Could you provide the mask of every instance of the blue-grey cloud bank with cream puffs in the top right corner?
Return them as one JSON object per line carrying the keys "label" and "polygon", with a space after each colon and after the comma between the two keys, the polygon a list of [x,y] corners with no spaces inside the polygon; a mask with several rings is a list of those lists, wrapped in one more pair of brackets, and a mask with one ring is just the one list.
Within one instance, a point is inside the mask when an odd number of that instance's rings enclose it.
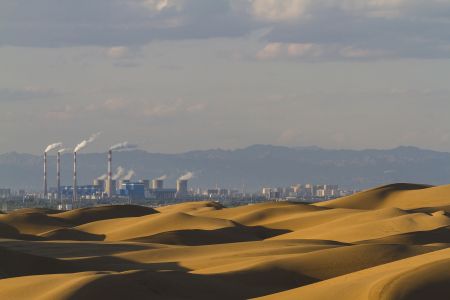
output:
{"label": "blue-grey cloud bank with cream puffs in the top right corner", "polygon": [[449,1],[330,0],[303,4],[302,13],[288,21],[268,18],[271,31],[264,38],[267,45],[309,45],[313,51],[301,47],[300,55],[293,55],[280,50],[274,58],[450,57],[450,32],[444,30],[450,22]]}

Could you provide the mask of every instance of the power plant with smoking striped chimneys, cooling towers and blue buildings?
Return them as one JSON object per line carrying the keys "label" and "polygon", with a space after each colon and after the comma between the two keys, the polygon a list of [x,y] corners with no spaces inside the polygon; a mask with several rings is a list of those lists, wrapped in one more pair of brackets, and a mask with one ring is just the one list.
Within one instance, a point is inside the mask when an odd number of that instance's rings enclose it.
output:
{"label": "power plant with smoking striped chimneys, cooling towers and blue buildings", "polygon": [[[73,150],[73,177],[71,186],[61,185],[61,154],[66,151],[62,149],[61,143],[49,145],[44,151],[44,197],[48,199],[57,199],[57,204],[61,209],[73,209],[86,206],[87,200],[95,200],[97,203],[115,203],[116,201],[138,201],[138,200],[164,200],[170,201],[175,199],[189,198],[188,181],[193,177],[188,172],[178,178],[176,188],[165,188],[164,181],[167,176],[161,176],[153,180],[142,179],[140,181],[132,181],[135,172],[126,170],[118,166],[113,173],[113,152],[126,151],[135,149],[135,145],[127,142],[112,146],[107,151],[107,173],[96,178],[92,185],[78,185],[78,154],[88,144],[93,142],[98,134],[91,136],[87,140],[83,140]],[[60,148],[56,154],[56,188],[52,188],[48,193],[47,187],[47,153],[53,149]],[[64,200],[70,199],[69,205],[63,205]],[[122,199],[122,200],[120,200]],[[81,201],[83,200],[83,201]],[[102,202],[104,201],[104,202]],[[66,202],[67,204],[67,202]]]}

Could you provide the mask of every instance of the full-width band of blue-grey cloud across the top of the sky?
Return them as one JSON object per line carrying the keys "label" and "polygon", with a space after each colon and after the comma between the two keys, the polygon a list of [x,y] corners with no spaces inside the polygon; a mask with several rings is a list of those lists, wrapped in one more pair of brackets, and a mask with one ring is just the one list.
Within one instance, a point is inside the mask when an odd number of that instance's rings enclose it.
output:
{"label": "full-width band of blue-grey cloud across the top of the sky", "polygon": [[248,38],[259,59],[449,58],[447,0],[4,0],[0,45],[101,46],[119,66],[160,40]]}

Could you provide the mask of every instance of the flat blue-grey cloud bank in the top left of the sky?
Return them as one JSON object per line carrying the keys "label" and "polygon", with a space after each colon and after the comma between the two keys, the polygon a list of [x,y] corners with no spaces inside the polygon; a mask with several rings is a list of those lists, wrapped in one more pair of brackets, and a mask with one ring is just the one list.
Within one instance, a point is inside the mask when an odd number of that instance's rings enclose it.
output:
{"label": "flat blue-grey cloud bank in the top left of the sky", "polygon": [[230,0],[0,1],[0,45],[110,48],[248,32]]}

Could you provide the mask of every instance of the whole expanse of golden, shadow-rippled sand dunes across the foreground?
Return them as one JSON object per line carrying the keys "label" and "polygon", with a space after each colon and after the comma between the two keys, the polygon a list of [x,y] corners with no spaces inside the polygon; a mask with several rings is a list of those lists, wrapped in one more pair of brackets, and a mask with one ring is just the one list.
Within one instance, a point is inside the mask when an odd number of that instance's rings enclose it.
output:
{"label": "whole expanse of golden, shadow-rippled sand dunes across the foreground", "polygon": [[0,299],[448,299],[450,186],[0,214]]}

